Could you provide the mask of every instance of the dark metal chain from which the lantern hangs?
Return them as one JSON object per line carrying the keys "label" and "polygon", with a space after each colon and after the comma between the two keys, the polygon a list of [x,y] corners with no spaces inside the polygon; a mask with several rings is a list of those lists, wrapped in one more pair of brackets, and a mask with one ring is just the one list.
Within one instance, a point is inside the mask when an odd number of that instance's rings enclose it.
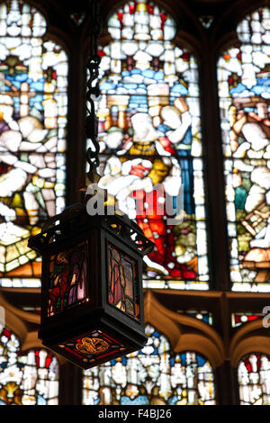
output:
{"label": "dark metal chain from which the lantern hangs", "polygon": [[[86,110],[88,112],[85,121],[85,134],[87,139],[91,139],[94,148],[90,147],[86,152],[86,159],[90,166],[90,172],[95,171],[99,166],[99,142],[97,140],[98,133],[98,119],[94,112],[93,96],[97,98],[100,95],[100,89],[97,82],[98,68],[101,58],[98,55],[98,39],[102,31],[102,18],[100,14],[99,0],[91,1],[91,16],[92,16],[92,29],[91,29],[91,47],[90,57],[86,61],[86,67],[89,71],[89,78],[86,83]],[[88,106],[89,104],[89,106]]]}

